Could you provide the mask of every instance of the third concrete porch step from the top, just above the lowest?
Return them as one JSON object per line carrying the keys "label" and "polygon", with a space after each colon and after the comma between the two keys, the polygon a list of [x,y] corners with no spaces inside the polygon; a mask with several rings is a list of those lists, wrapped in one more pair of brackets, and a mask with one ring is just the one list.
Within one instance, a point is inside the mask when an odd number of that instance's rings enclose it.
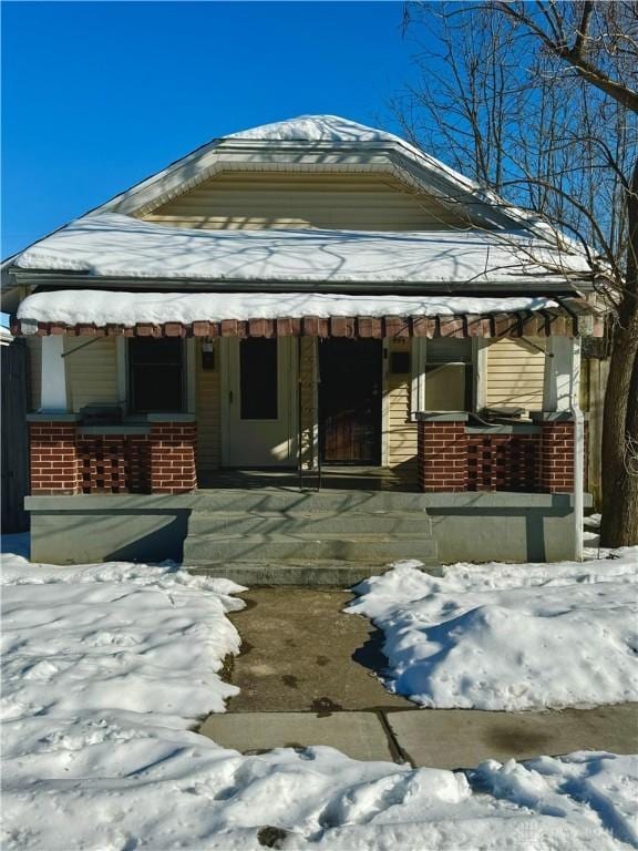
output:
{"label": "third concrete porch step from the top, just above the lowest", "polygon": [[277,562],[279,560],[333,560],[380,564],[399,558],[436,561],[436,542],[428,536],[392,535],[188,535],[184,563]]}

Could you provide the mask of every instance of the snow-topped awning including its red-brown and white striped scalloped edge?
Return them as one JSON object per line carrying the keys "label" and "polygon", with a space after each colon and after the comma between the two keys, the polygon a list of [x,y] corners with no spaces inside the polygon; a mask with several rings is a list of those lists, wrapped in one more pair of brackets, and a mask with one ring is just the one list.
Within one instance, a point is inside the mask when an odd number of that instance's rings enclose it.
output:
{"label": "snow-topped awning including its red-brown and white striped scalloped edge", "polygon": [[436,337],[584,332],[586,305],[546,297],[347,296],[302,293],[55,290],[28,296],[22,334]]}

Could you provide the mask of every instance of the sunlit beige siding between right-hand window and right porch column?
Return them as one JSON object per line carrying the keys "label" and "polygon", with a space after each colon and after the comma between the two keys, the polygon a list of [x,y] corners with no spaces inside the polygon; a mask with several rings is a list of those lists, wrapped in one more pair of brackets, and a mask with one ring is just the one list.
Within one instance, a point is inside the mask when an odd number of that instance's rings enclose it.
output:
{"label": "sunlit beige siding between right-hand window and right porch column", "polygon": [[485,404],[488,408],[543,408],[543,347],[542,338],[531,341],[506,338],[487,348]]}

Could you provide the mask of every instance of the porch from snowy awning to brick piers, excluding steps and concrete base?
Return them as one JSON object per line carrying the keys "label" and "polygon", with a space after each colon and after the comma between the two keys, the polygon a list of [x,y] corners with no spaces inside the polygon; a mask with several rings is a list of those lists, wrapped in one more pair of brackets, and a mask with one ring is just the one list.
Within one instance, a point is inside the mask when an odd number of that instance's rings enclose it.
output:
{"label": "porch from snowy awning to brick piers, excluding steps and concrete base", "polygon": [[[23,301],[17,331],[41,348],[32,493],[184,493],[261,468],[301,488],[574,489],[580,338],[603,332],[579,299],[166,295]],[[266,316],[196,318],[251,310]]]}

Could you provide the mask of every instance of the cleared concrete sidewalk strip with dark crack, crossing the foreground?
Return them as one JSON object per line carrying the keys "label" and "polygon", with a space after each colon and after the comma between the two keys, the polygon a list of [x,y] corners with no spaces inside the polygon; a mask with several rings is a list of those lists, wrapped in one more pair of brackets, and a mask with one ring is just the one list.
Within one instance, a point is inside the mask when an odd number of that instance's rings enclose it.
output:
{"label": "cleared concrete sidewalk strip with dark crack, crossing the foreground", "polygon": [[199,732],[243,753],[329,745],[353,759],[474,768],[484,759],[504,762],[575,750],[636,753],[638,705],[562,712],[237,712],[209,716]]}

